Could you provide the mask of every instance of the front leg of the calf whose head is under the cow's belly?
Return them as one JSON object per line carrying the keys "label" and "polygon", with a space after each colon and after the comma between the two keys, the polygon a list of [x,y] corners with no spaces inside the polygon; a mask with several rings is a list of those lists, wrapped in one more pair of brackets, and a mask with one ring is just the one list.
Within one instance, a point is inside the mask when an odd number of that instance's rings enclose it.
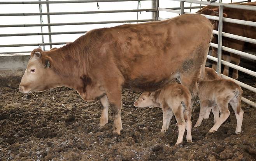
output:
{"label": "front leg of the calf whose head is under the cow's belly", "polygon": [[172,109],[168,105],[162,107],[163,110],[163,126],[161,129],[162,133],[165,133],[169,128],[170,120],[172,119]]}

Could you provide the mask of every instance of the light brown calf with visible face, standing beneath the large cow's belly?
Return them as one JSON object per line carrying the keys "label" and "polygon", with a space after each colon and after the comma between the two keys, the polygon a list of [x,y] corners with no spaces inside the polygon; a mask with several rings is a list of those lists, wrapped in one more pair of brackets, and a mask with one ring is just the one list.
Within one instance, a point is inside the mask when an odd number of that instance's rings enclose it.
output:
{"label": "light brown calf with visible face, standing beneath the large cow's belly", "polygon": [[134,102],[135,107],[161,107],[163,110],[163,126],[161,132],[169,128],[172,114],[179,127],[179,136],[176,142],[181,144],[185,129],[187,142],[192,142],[191,137],[191,94],[185,86],[173,83],[155,92],[143,92]]}

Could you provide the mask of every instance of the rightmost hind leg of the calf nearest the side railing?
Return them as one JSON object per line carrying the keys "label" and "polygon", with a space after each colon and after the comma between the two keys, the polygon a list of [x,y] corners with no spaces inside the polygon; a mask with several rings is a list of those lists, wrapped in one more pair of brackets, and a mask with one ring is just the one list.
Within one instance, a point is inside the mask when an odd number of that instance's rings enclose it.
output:
{"label": "rightmost hind leg of the calf nearest the side railing", "polygon": [[240,134],[242,131],[242,122],[243,122],[244,111],[240,107],[239,100],[237,100],[235,98],[230,101],[230,105],[235,112],[235,117],[237,118],[237,128],[235,129],[235,133]]}

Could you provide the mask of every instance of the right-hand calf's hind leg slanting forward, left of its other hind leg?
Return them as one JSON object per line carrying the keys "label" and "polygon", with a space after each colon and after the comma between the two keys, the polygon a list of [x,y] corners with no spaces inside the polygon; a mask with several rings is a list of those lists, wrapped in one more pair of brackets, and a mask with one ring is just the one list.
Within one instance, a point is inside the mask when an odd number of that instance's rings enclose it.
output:
{"label": "right-hand calf's hind leg slanting forward, left of its other hind leg", "polygon": [[223,122],[226,121],[226,119],[228,119],[228,116],[230,115],[230,112],[228,110],[228,101],[226,100],[226,98],[217,98],[217,106],[221,111],[221,115],[219,117],[219,120],[209,130],[209,133],[214,133],[215,131],[217,131],[217,129],[219,129],[219,127],[223,124]]}

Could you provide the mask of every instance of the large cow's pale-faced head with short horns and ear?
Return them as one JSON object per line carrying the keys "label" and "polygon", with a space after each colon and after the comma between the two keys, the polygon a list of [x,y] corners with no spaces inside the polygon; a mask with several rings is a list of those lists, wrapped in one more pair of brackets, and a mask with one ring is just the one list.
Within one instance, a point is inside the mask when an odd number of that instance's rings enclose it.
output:
{"label": "large cow's pale-faced head with short horns and ear", "polygon": [[57,76],[51,69],[52,59],[39,47],[31,52],[28,66],[19,84],[21,93],[44,91],[58,86]]}

